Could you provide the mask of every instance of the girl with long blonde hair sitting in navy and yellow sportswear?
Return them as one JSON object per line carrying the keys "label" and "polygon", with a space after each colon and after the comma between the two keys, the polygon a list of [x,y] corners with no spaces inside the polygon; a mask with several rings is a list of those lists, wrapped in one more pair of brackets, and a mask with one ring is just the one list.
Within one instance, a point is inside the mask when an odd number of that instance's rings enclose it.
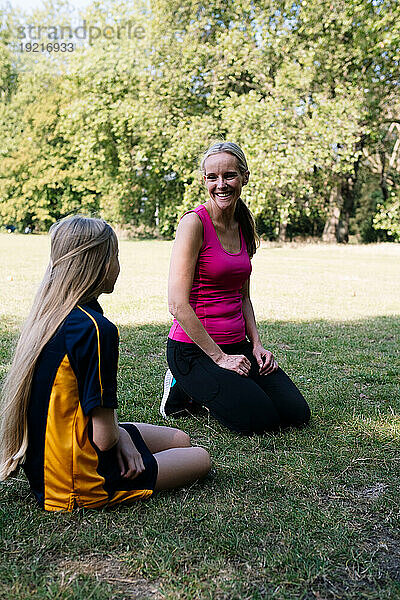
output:
{"label": "girl with long blonde hair sitting in navy and yellow sportswear", "polygon": [[120,270],[114,231],[74,216],[50,232],[50,264],[3,388],[0,480],[22,464],[44,509],[71,511],[205,476],[209,455],[186,433],[118,425],[118,330],[97,301]]}

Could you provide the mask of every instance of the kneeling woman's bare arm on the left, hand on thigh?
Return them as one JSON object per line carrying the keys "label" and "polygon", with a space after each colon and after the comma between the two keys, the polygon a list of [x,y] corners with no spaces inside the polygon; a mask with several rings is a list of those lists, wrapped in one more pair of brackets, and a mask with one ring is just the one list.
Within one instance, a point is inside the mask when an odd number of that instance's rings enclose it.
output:
{"label": "kneeling woman's bare arm on the left, hand on thigh", "polygon": [[168,279],[168,305],[187,335],[217,365],[247,375],[250,361],[243,355],[225,354],[204,329],[189,303],[201,245],[203,225],[194,213],[185,215],[177,228]]}

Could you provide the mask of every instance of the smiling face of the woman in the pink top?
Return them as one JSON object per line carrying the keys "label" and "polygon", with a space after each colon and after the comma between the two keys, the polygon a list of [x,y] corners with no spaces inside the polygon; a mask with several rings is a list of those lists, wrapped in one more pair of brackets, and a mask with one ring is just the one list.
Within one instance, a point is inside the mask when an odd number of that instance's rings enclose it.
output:
{"label": "smiling face of the woman in the pink top", "polygon": [[228,152],[212,154],[204,162],[204,183],[210,199],[220,210],[235,207],[242,186],[248,181],[248,171],[243,175],[236,156]]}

